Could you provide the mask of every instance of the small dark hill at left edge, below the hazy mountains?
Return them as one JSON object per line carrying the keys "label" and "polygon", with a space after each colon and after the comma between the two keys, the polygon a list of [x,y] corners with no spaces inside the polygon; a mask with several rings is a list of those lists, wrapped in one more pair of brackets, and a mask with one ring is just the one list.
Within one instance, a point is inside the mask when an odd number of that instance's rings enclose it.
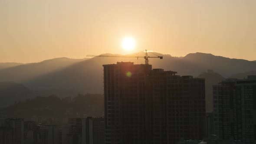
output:
{"label": "small dark hill at left edge, below the hazy mountains", "polygon": [[0,82],[0,107],[14,104],[30,98],[31,91],[22,84],[14,82]]}

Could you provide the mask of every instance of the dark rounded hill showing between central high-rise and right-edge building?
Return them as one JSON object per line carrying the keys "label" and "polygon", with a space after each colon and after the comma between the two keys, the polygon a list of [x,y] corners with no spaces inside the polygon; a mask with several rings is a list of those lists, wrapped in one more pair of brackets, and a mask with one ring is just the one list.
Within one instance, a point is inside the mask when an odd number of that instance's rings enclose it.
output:
{"label": "dark rounded hill showing between central high-rise and right-edge building", "polygon": [[213,85],[217,85],[225,78],[212,70],[208,72],[202,72],[197,78],[205,79],[205,101],[206,101],[206,111],[213,111]]}

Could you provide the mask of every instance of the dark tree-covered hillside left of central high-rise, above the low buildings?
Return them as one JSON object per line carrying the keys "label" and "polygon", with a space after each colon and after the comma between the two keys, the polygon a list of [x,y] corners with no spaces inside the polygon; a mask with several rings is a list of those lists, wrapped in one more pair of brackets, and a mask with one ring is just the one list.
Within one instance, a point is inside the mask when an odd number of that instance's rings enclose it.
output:
{"label": "dark tree-covered hillside left of central high-rise, above the low buildings", "polygon": [[86,94],[62,99],[56,95],[39,96],[3,108],[0,113],[9,118],[31,118],[32,116],[53,118],[102,117],[104,114],[104,96]]}

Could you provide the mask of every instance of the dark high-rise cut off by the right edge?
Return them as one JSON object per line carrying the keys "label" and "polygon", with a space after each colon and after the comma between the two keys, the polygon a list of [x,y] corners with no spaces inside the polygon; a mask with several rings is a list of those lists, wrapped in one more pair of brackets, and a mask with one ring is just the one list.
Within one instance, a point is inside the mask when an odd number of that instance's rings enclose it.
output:
{"label": "dark high-rise cut off by the right edge", "polygon": [[256,76],[213,86],[214,132],[223,140],[256,141]]}

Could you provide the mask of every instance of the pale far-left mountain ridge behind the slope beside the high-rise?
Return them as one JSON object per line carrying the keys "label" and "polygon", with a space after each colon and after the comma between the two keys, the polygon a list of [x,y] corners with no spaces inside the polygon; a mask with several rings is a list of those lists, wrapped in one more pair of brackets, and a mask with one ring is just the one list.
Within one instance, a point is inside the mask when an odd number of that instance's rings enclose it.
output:
{"label": "pale far-left mountain ridge behind the slope beside the high-rise", "polygon": [[38,63],[18,65],[9,69],[0,70],[0,82],[12,81],[23,83],[26,80],[34,79],[37,76],[64,69],[84,59],[56,58]]}

